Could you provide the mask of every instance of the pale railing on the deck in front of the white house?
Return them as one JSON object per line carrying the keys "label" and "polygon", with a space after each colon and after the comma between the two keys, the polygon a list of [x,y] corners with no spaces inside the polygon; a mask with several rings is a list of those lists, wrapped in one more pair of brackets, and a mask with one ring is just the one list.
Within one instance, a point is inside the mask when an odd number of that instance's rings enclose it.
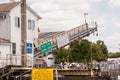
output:
{"label": "pale railing on the deck in front of the white house", "polygon": [[7,54],[5,58],[0,58],[0,68],[4,68],[6,65],[22,65],[21,57],[24,57],[26,66],[32,66],[33,61],[32,57],[28,55],[19,55],[19,54]]}

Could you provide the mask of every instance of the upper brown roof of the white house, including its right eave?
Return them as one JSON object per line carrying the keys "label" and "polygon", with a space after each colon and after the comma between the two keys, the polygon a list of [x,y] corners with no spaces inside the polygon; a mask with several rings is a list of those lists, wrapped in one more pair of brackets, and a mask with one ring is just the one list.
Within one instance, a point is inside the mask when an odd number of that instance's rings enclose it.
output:
{"label": "upper brown roof of the white house, including its right eave", "polygon": [[[0,4],[0,12],[9,12],[11,9],[16,7],[17,5],[21,4],[21,2],[13,2],[13,3],[3,3]],[[38,19],[41,19],[41,17],[30,7],[26,6],[26,8],[32,12]]]}

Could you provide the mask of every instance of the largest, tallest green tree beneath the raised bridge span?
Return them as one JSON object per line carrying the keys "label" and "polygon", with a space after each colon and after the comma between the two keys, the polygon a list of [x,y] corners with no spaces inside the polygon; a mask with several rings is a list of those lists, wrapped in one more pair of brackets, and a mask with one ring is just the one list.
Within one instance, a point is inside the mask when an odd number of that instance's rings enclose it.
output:
{"label": "largest, tallest green tree beneath the raised bridge span", "polygon": [[71,58],[76,62],[87,63],[89,61],[90,42],[86,39],[71,43]]}

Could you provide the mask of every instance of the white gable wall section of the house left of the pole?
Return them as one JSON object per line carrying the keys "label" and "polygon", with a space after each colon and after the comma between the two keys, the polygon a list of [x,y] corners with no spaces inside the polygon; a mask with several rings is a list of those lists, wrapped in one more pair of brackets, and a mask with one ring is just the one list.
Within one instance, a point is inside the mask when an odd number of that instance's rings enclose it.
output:
{"label": "white gable wall section of the house left of the pole", "polygon": [[[20,5],[16,6],[10,11],[11,18],[11,42],[16,43],[16,54],[21,54],[21,26],[18,28],[15,26],[15,16],[21,17]],[[21,18],[20,18],[21,25]]]}

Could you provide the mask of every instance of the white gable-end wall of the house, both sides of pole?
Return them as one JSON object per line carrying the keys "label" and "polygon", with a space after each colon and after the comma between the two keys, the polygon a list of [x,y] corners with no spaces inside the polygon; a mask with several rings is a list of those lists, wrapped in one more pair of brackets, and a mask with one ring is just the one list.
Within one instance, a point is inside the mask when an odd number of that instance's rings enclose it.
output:
{"label": "white gable-end wall of the house, both sides of pole", "polygon": [[[37,38],[37,17],[35,17],[28,9],[27,9],[27,42],[33,43],[33,38]],[[11,10],[11,42],[17,43],[17,54],[21,54],[21,26],[20,28],[15,27],[15,16],[21,17],[21,7],[20,5]],[[21,18],[20,18],[21,19]],[[35,30],[28,30],[28,19],[35,21]],[[21,24],[21,22],[20,22]]]}

